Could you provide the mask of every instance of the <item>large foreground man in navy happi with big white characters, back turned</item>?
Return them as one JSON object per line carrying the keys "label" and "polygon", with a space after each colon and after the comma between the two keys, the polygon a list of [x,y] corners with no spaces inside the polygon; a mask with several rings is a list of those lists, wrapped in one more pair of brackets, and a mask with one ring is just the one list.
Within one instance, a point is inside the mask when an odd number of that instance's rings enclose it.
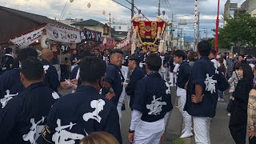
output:
{"label": "large foreground man in navy happi with big white characters, back turned", "polygon": [[82,85],[73,94],[58,99],[47,116],[38,144],[79,143],[87,134],[106,131],[122,143],[116,106],[98,94],[106,71],[101,58],[86,57],[80,64]]}

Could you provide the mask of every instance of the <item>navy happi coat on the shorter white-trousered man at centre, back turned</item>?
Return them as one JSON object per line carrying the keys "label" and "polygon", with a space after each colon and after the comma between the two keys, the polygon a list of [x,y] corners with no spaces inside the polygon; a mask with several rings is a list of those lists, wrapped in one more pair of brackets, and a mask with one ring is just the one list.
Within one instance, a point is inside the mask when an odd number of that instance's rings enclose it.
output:
{"label": "navy happi coat on the shorter white-trousered man at centre, back turned", "polygon": [[132,108],[142,112],[144,122],[156,122],[173,109],[170,86],[158,72],[147,74],[138,82]]}

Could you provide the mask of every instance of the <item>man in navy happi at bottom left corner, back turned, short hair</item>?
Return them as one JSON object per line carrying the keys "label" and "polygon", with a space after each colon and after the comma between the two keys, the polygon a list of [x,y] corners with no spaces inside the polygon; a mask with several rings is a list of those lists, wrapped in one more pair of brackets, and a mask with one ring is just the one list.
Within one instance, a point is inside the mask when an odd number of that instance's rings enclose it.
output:
{"label": "man in navy happi at bottom left corner, back turned, short hair", "polygon": [[[59,98],[42,82],[44,70],[38,58],[22,62],[22,93],[6,94],[0,108],[0,143],[34,144],[46,123],[55,100]],[[20,80],[20,79],[19,79]]]}

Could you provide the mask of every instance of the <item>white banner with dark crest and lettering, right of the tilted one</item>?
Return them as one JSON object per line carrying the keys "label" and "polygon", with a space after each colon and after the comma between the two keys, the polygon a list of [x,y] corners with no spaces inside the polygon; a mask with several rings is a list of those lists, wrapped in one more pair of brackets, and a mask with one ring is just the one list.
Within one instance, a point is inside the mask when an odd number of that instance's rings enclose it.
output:
{"label": "white banner with dark crest and lettering, right of the tilted one", "polygon": [[80,31],[63,26],[48,24],[46,26],[47,38],[56,42],[79,43],[81,42]]}

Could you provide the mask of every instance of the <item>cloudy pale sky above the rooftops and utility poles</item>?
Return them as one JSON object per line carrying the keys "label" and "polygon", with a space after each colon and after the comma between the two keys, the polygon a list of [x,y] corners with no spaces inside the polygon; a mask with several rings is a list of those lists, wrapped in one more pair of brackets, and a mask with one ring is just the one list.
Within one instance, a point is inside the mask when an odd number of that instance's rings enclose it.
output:
{"label": "cloudy pale sky above the rooftops and utility poles", "polygon": [[[67,1],[70,0],[0,0],[0,6],[10,7],[16,10],[22,10],[33,14],[45,15],[49,18],[61,18],[62,10]],[[131,0],[115,0],[124,6],[130,7]],[[182,19],[186,19],[187,25],[182,26],[183,34],[186,36],[194,35],[194,0],[160,0],[161,11],[166,10],[166,14],[171,19],[174,15],[174,26],[178,25],[178,22]],[[231,2],[238,2],[241,5],[245,0],[231,0]],[[90,8],[88,8],[90,3]],[[224,5],[226,0],[220,0],[220,15],[224,13]],[[154,20],[158,14],[158,0],[134,0],[135,6],[142,10],[142,13],[146,15],[150,20]],[[200,11],[200,30],[202,30],[201,36],[206,37],[208,31],[208,37],[213,37],[211,32],[215,28],[215,19],[217,16],[218,0],[198,0],[198,10]],[[106,14],[102,14],[105,10]],[[136,10],[136,9],[135,9]],[[62,19],[65,18],[83,18],[95,19],[100,22],[107,22],[109,15],[114,17],[115,22],[129,22],[130,10],[118,5],[112,0],[74,0],[74,2],[68,2]],[[220,21],[222,26],[223,21]],[[177,33],[177,30],[176,30]],[[176,34],[177,35],[177,34]]]}

